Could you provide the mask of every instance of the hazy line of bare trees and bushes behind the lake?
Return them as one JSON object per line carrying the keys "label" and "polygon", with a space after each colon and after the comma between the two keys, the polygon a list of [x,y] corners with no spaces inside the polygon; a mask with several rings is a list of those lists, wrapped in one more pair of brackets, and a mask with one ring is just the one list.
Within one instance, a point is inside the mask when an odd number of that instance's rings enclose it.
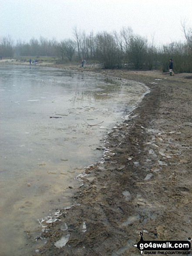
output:
{"label": "hazy line of bare trees and bushes behind the lake", "polygon": [[147,39],[135,34],[130,27],[120,32],[107,31],[86,34],[74,28],[74,39],[56,41],[40,37],[29,42],[17,41],[14,44],[10,36],[0,40],[0,57],[20,56],[59,57],[60,62],[97,61],[104,68],[134,68],[168,70],[168,60],[174,60],[175,72],[192,72],[192,29],[183,26],[185,42],[156,47]]}

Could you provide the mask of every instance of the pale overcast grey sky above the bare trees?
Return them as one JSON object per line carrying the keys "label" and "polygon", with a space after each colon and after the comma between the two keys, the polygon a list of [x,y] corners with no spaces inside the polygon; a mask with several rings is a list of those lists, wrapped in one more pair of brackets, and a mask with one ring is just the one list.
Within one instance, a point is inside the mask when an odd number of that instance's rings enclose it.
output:
{"label": "pale overcast grey sky above the bare trees", "polygon": [[181,20],[192,24],[192,0],[0,0],[0,37],[16,41],[73,38],[73,28],[87,33],[120,31],[158,44],[184,41]]}

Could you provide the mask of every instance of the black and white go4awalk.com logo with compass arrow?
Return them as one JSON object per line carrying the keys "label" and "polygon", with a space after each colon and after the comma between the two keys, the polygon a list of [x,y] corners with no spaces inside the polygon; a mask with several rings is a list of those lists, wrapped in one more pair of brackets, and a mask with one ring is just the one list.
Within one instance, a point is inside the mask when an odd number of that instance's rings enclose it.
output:
{"label": "black and white go4awalk.com logo with compass arrow", "polygon": [[191,243],[189,241],[144,241],[143,233],[140,233],[141,239],[134,246],[138,248],[141,254],[164,254],[164,255],[189,255]]}

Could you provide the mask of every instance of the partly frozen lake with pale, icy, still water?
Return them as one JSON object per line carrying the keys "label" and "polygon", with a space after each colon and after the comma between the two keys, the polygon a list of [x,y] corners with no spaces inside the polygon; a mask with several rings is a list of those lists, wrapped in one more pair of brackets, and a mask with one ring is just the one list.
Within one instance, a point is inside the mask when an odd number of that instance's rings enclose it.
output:
{"label": "partly frozen lake with pale, icy, still water", "polygon": [[35,251],[27,230],[70,206],[75,177],[101,159],[108,129],[146,90],[88,72],[0,67],[0,255]]}

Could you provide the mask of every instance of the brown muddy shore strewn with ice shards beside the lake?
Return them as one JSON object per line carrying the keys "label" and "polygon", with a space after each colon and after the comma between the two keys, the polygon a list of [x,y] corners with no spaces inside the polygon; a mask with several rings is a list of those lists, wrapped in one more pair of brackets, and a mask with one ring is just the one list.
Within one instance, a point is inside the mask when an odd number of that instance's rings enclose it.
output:
{"label": "brown muddy shore strewn with ice shards beside the lake", "polygon": [[30,243],[46,241],[34,255],[138,255],[132,245],[141,231],[145,240],[187,240],[192,236],[190,74],[54,67],[144,82],[151,92],[108,134],[104,159],[85,169],[72,207],[61,209],[59,220],[46,224],[37,241],[28,233]]}

